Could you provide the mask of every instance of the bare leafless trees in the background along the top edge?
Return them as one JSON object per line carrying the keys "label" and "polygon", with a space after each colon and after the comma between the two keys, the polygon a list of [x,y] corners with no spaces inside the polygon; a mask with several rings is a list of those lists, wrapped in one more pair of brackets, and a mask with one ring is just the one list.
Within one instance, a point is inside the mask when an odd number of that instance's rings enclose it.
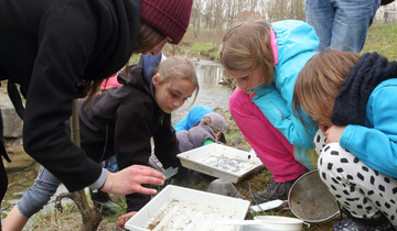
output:
{"label": "bare leafless trees in the background along the top edge", "polygon": [[[195,38],[207,33],[219,36],[236,21],[262,18],[269,22],[304,20],[304,0],[194,0],[192,10]],[[205,30],[205,35],[202,32]],[[213,35],[208,37],[213,40]],[[213,40],[215,41],[215,40]]]}

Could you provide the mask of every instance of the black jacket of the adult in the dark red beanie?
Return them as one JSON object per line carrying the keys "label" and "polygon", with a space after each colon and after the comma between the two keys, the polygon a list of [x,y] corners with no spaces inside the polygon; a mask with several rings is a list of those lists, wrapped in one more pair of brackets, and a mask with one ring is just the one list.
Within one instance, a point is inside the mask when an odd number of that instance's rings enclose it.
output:
{"label": "black jacket of the adult in the dark red beanie", "polygon": [[0,80],[29,88],[24,148],[71,191],[101,173],[65,130],[79,80],[121,69],[133,52],[139,23],[135,0],[0,1]]}

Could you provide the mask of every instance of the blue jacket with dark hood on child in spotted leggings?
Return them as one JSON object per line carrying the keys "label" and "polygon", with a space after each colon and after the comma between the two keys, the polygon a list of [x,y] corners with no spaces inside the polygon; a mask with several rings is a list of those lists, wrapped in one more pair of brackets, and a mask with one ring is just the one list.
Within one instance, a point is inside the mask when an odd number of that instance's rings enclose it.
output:
{"label": "blue jacket with dark hood on child in spotted leggings", "polygon": [[332,122],[348,124],[340,144],[371,168],[397,178],[397,62],[366,53],[335,99]]}

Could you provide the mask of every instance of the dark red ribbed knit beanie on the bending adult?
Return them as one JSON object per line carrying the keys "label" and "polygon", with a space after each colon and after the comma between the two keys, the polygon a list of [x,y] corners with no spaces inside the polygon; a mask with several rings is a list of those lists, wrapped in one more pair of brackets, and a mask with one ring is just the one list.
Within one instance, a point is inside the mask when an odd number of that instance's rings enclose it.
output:
{"label": "dark red ribbed knit beanie on the bending adult", "polygon": [[179,44],[187,30],[193,0],[140,0],[141,20]]}

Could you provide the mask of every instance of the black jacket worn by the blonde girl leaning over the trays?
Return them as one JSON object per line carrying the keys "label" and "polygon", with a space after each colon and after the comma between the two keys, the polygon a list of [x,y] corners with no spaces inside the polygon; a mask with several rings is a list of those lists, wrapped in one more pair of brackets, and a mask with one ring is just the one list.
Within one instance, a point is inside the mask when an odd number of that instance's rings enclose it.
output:
{"label": "black jacket worn by the blonde girl leaning over the trays", "polygon": [[[149,166],[153,138],[154,153],[163,167],[180,167],[171,114],[157,105],[142,67],[130,66],[128,78],[122,70],[118,81],[121,87],[109,88],[86,107],[81,105],[82,148],[98,162],[116,154],[120,169],[133,164]],[[149,202],[150,195],[131,194],[126,198],[127,211],[137,211]]]}

